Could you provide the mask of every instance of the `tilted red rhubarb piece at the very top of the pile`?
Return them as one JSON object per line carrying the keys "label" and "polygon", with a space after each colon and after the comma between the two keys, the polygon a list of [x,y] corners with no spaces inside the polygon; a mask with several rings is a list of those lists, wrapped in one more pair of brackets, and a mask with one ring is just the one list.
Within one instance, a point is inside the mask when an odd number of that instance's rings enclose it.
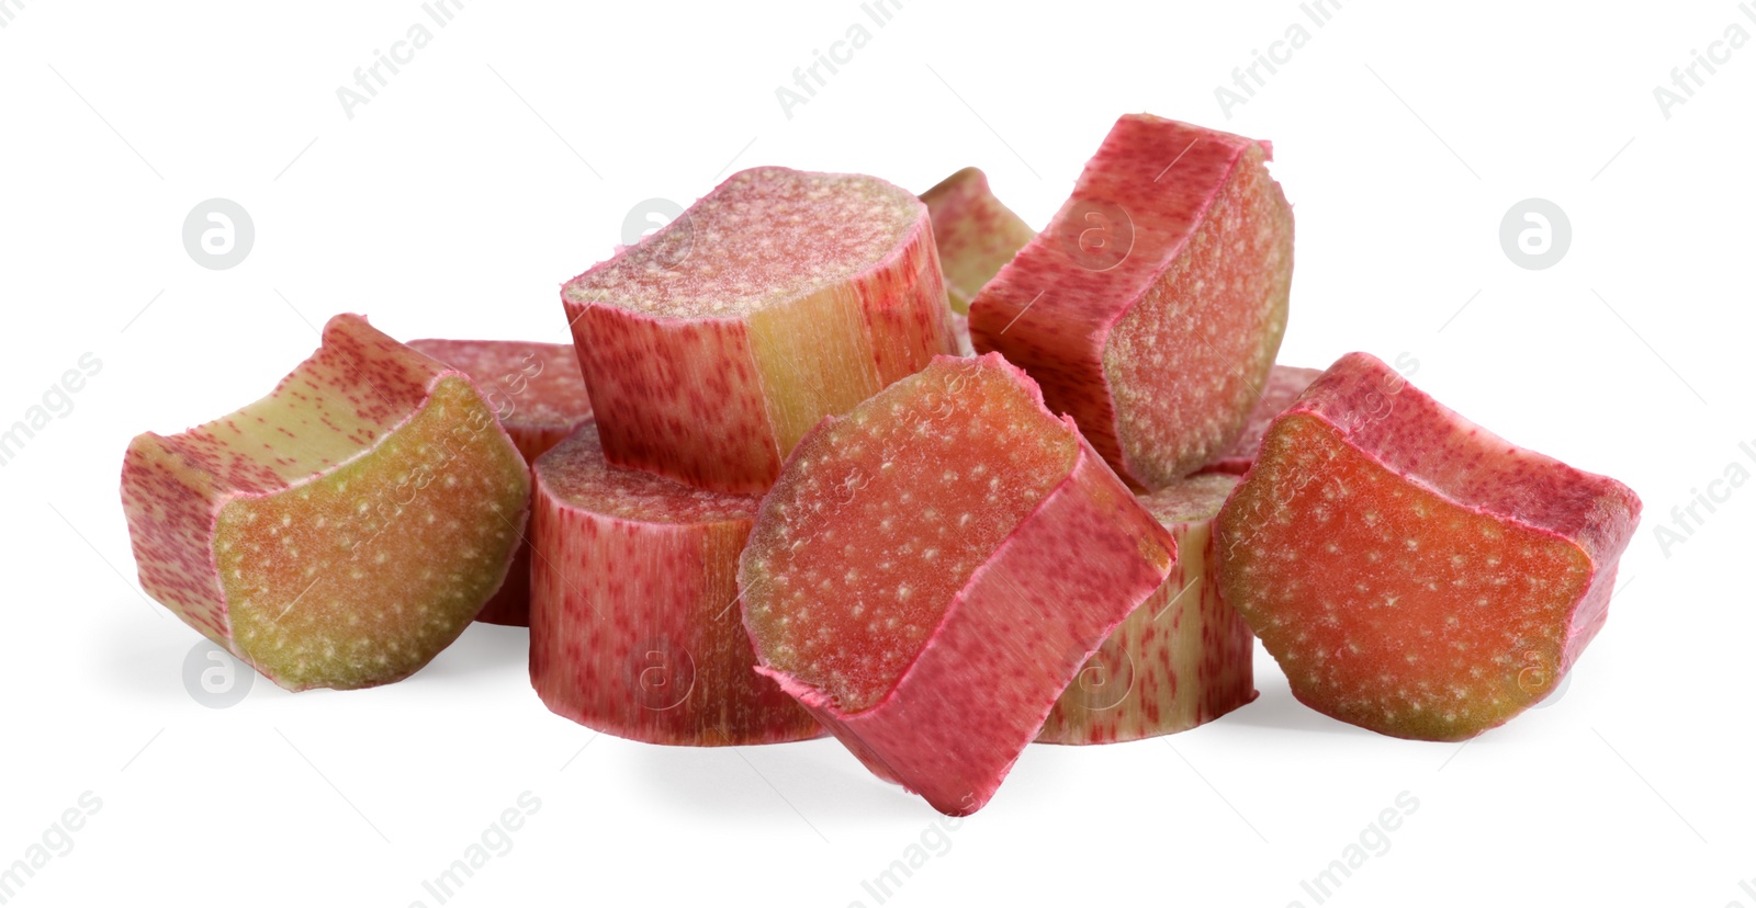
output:
{"label": "tilted red rhubarb piece at the very top of the pile", "polygon": [[1124,116],[969,307],[976,351],[1029,372],[1134,487],[1226,450],[1275,363],[1292,209],[1268,158],[1266,142]]}

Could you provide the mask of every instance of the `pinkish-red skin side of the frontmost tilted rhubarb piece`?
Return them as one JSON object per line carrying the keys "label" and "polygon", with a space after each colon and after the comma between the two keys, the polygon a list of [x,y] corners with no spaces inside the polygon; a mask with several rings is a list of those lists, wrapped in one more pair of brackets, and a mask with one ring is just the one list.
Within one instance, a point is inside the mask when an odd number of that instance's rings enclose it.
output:
{"label": "pinkish-red skin side of the frontmost tilted rhubarb piece", "polygon": [[766,663],[757,671],[799,698],[880,778],[941,813],[968,815],[992,798],[1085,659],[1175,563],[1169,531],[1082,438],[1068,477],[976,568],[876,705],[848,713],[785,671]]}

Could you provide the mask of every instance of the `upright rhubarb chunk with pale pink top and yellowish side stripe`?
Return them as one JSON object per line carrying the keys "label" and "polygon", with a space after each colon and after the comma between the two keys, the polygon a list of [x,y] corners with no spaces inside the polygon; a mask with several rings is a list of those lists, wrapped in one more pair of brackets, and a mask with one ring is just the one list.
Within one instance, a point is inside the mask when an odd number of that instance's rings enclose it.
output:
{"label": "upright rhubarb chunk with pale pink top and yellowish side stripe", "polygon": [[734,174],[562,301],[609,463],[723,493],[955,349],[927,209],[876,177]]}

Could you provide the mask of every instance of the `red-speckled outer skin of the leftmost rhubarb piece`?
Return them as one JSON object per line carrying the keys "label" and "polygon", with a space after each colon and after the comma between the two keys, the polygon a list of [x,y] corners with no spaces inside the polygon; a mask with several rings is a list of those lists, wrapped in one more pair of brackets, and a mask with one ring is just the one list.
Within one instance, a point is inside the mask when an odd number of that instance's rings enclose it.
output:
{"label": "red-speckled outer skin of the leftmost rhubarb piece", "polygon": [[[348,314],[323,326],[323,345],[311,361],[318,366],[314,372],[290,373],[270,396],[293,398],[311,408],[311,417],[330,426],[327,408],[337,407],[378,422],[378,431],[348,436],[360,447],[374,445],[407,422],[443,379],[469,380],[467,373],[418,356],[374,330],[365,317]],[[320,384],[314,375],[330,380]],[[279,435],[293,440],[284,428]],[[506,438],[504,431],[499,435]],[[246,442],[230,421],[170,436],[142,433],[123,456],[121,501],[140,587],[246,663],[249,656],[232,640],[220,587],[216,522],[232,500],[274,496],[321,475],[299,473],[291,465],[270,443]],[[335,465],[325,461],[327,466]],[[523,515],[518,521],[522,524]]]}

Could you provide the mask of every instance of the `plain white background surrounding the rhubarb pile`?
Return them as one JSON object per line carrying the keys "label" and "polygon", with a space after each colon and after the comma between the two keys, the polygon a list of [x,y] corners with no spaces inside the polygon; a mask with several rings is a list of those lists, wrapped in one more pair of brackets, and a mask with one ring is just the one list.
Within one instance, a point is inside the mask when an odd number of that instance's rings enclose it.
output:
{"label": "plain white background surrounding the rhubarb pile", "polygon": [[[1730,491],[1749,405],[1756,46],[1663,116],[1652,89],[1733,21],[1649,5],[471,0],[349,119],[335,89],[425,21],[413,0],[25,0],[0,28],[0,424],[81,354],[102,372],[0,468],[0,864],[102,808],[9,904],[437,904],[421,889],[520,792],[541,808],[451,904],[1317,901],[1301,889],[1400,792],[1419,808],[1329,904],[1756,906],[1751,522]],[[873,32],[810,103],[774,96]],[[1310,42],[1227,119],[1215,88],[1285,28]],[[945,831],[834,741],[741,750],[595,738],[548,713],[525,633],[476,626],[407,682],[214,710],[198,636],[137,592],[128,438],[230,412],[365,312],[397,337],[564,340],[557,287],[630,207],[778,163],[925,189],[980,165],[1041,226],[1122,112],[1275,142],[1298,214],[1282,361],[1352,349],[1514,442],[1645,500],[1623,592],[1559,699],[1465,747],[1257,703],[1166,740],[1033,747]],[[181,226],[256,226],[212,272]],[[1515,266],[1500,219],[1556,202],[1572,247]],[[1752,484],[1756,486],[1756,484]],[[1726,491],[1730,487],[1719,486]],[[583,750],[581,750],[583,748]],[[1752,889],[1756,890],[1756,889]]]}

